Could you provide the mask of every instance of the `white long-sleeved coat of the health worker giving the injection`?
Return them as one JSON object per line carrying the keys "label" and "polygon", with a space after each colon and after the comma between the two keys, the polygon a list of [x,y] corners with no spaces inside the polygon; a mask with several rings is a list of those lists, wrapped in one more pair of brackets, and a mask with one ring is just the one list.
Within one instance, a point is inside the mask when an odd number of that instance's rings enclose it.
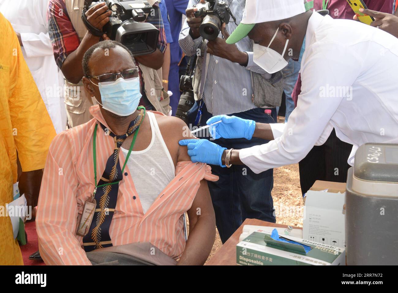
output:
{"label": "white long-sleeved coat of the health worker giving the injection", "polygon": [[[271,124],[274,140],[240,150],[259,173],[295,164],[333,128],[353,145],[398,143],[398,39],[352,20],[314,12],[301,61],[301,94],[285,124]],[[348,87],[348,88],[346,88]]]}

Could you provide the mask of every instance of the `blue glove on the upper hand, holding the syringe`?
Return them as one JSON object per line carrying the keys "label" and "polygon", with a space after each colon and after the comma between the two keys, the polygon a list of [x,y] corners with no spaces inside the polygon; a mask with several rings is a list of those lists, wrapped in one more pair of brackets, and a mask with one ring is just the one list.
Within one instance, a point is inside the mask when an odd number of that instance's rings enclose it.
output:
{"label": "blue glove on the upper hand, holding the syringe", "polygon": [[207,120],[207,125],[222,121],[210,127],[210,134],[214,139],[223,137],[224,139],[252,139],[256,122],[253,120],[242,119],[236,116],[217,115]]}

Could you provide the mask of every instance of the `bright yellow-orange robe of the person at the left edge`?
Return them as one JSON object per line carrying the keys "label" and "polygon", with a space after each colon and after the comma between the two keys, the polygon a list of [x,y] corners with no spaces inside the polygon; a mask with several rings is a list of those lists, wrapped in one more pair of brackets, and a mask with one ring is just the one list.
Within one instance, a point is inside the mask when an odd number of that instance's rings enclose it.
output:
{"label": "bright yellow-orange robe of the person at the left edge", "polygon": [[[1,13],[0,32],[0,206],[5,207],[17,180],[16,151],[23,172],[44,168],[55,130],[18,37]],[[10,218],[0,216],[0,265],[22,264]]]}

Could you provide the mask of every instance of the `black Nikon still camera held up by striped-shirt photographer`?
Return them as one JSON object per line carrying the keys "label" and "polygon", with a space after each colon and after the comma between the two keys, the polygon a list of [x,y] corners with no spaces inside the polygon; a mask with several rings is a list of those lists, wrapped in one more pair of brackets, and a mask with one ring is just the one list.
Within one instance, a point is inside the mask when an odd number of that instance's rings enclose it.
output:
{"label": "black Nikon still camera held up by striped-shirt photographer", "polygon": [[203,39],[217,39],[223,22],[228,24],[230,17],[236,22],[228,5],[223,0],[207,0],[195,6],[198,10],[194,13],[195,17],[203,17],[199,27],[199,33]]}

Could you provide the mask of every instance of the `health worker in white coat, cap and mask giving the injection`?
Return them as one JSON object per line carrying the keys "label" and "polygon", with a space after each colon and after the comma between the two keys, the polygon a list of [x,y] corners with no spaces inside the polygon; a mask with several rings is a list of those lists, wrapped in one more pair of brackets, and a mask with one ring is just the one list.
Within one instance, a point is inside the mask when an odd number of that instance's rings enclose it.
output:
{"label": "health worker in white coat, cap and mask giving the injection", "polygon": [[303,0],[246,0],[246,17],[226,42],[248,35],[254,62],[269,73],[302,55],[297,107],[284,124],[211,117],[207,124],[222,121],[211,127],[215,139],[271,141],[241,150],[203,139],[180,141],[193,162],[245,164],[259,173],[299,162],[333,128],[353,145],[347,158],[351,166],[364,143],[398,143],[398,39],[359,21],[321,16],[308,5]]}

